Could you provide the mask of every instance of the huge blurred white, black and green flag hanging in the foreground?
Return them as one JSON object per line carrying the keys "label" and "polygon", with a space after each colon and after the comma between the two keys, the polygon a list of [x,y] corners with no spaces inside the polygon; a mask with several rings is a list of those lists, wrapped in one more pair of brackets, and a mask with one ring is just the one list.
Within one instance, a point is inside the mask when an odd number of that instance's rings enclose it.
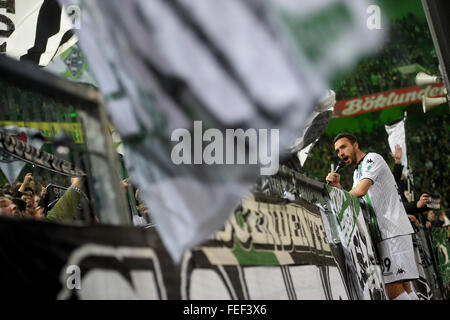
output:
{"label": "huge blurred white, black and green flag hanging in the foreground", "polygon": [[381,39],[366,1],[60,2],[80,7],[131,181],[176,261],[276,172],[329,77]]}

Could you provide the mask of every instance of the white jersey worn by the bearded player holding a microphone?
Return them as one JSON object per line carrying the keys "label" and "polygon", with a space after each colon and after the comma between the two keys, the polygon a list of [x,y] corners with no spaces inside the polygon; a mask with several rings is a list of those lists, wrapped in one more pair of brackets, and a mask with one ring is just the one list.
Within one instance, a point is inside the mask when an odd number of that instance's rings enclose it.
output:
{"label": "white jersey worn by the bearded player holding a microphone", "polygon": [[375,213],[381,239],[414,233],[394,176],[378,153],[369,152],[361,159],[353,173],[353,188],[366,178],[373,184],[363,199]]}

